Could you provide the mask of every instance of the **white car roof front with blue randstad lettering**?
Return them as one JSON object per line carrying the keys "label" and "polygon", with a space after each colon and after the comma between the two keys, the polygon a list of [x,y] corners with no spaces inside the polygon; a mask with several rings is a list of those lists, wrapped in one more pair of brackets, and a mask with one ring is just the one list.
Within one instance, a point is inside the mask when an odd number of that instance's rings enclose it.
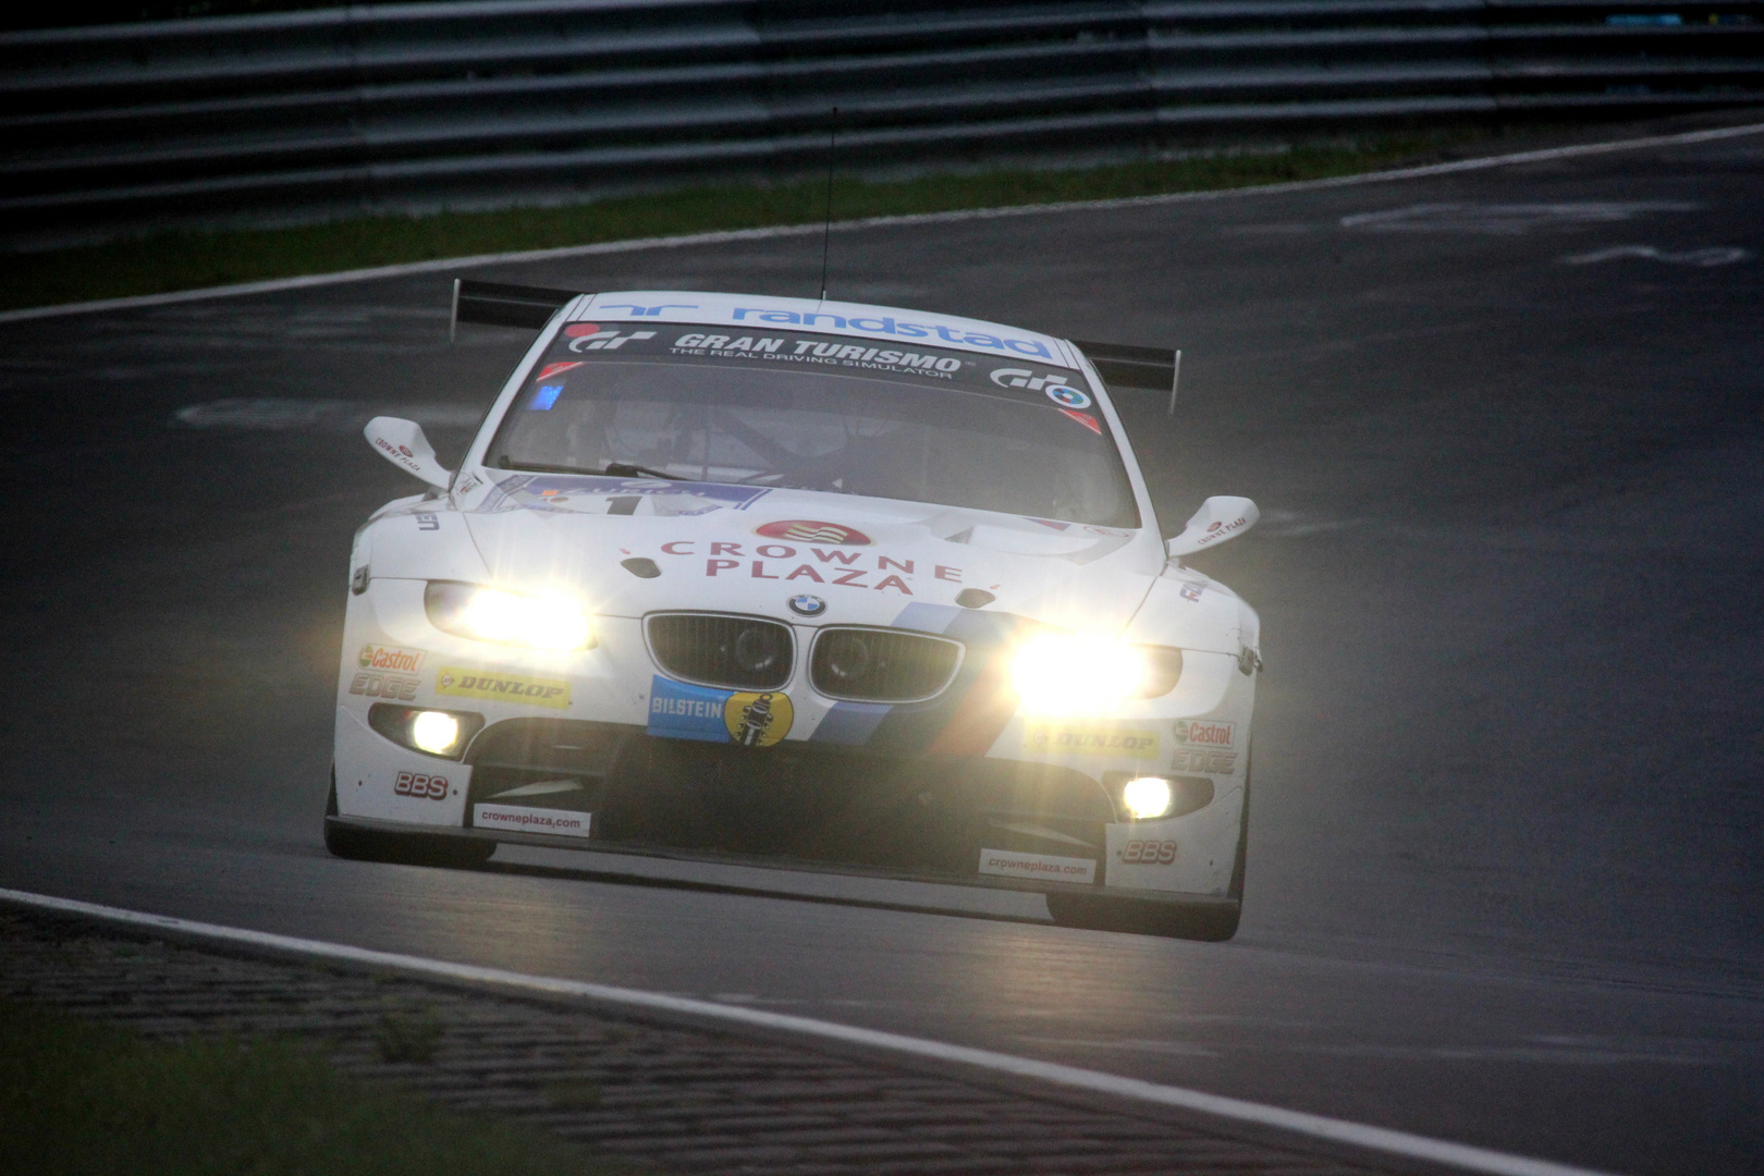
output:
{"label": "white car roof front with blue randstad lettering", "polygon": [[760,294],[713,294],[704,291],[637,289],[593,294],[575,309],[573,321],[637,319],[644,323],[693,323],[730,330],[787,328],[850,335],[889,342],[975,351],[981,354],[1043,360],[1078,367],[1073,347],[1064,339],[1027,331],[1004,323],[963,319],[931,310],[873,307],[861,301],[818,298],[773,298]]}

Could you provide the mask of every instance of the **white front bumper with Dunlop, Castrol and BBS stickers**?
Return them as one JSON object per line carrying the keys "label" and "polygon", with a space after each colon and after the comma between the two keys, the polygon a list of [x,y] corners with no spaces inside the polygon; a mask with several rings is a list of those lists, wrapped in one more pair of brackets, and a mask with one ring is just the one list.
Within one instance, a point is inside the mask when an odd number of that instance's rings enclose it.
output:
{"label": "white front bumper with Dunlop, Castrol and BBS stickers", "polygon": [[[972,654],[974,674],[930,703],[843,703],[792,681],[780,691],[794,703],[790,730],[773,746],[746,748],[714,733],[674,737],[672,716],[658,725],[656,700],[681,691],[656,674],[635,619],[609,619],[593,651],[529,654],[437,633],[422,614],[420,582],[376,580],[351,599],[346,651],[381,645],[418,654],[420,666],[399,679],[397,695],[374,693],[346,658],[339,823],[1230,901],[1254,677],[1222,654],[1191,656],[1171,695],[1108,719],[1000,709],[986,659]],[[480,672],[552,693],[540,703],[503,698],[467,677]],[[462,758],[429,756],[369,725],[370,707],[388,696],[471,711],[485,726]],[[1120,785],[1138,774],[1187,781],[1205,797],[1170,818],[1129,820]]]}

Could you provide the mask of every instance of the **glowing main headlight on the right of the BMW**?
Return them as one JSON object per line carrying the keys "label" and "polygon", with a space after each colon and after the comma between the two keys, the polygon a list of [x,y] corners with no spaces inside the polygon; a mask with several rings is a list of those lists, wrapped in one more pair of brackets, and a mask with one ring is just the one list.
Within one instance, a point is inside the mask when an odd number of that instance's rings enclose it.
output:
{"label": "glowing main headlight on the right of the BMW", "polygon": [[1023,707],[1041,714],[1090,714],[1125,698],[1157,698],[1175,689],[1178,677],[1180,649],[1085,633],[1041,633],[1011,659]]}

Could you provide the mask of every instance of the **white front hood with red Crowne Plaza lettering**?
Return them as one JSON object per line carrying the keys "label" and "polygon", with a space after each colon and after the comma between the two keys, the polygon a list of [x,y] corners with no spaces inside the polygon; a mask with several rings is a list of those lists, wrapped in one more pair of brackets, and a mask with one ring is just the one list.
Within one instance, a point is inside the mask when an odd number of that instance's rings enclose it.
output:
{"label": "white front hood with red Crowne Plaza lettering", "polygon": [[826,601],[815,622],[887,626],[981,589],[988,612],[1115,633],[1164,569],[1143,531],[804,490],[496,474],[459,497],[496,584],[564,589],[612,617],[792,619],[787,601],[808,594]]}

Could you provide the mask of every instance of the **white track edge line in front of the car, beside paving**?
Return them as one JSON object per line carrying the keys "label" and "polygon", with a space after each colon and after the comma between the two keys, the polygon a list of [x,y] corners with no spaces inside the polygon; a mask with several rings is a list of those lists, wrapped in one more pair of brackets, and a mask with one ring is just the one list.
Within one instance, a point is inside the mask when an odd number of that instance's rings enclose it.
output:
{"label": "white track edge line in front of the car, beside paving", "polygon": [[34,906],[37,910],[86,915],[134,927],[152,927],[226,943],[265,947],[277,952],[293,952],[318,959],[337,959],[377,968],[395,968],[404,973],[430,975],[448,980],[496,984],[501,987],[526,989],[550,996],[582,996],[609,1005],[654,1009],[660,1012],[686,1014],[691,1017],[730,1021],[755,1028],[820,1037],[826,1040],[838,1040],[887,1053],[912,1054],[917,1058],[991,1070],[995,1074],[1009,1074],[1013,1077],[1037,1079],[1071,1090],[1180,1107],[1184,1111],[1196,1111],[1200,1114],[1235,1120],[1238,1123],[1254,1123],[1258,1127],[1272,1127],[1297,1135],[1349,1144],[1367,1151],[1381,1151],[1411,1160],[1459,1167],[1469,1172],[1489,1172],[1492,1176],[1609,1176],[1593,1169],[1554,1164],[1551,1160],[1533,1160],[1521,1155],[1508,1155],[1505,1151],[1475,1148],[1471,1144],[1431,1139],[1427,1135],[1413,1135],[1409,1132],[1371,1127],[1365,1123],[1351,1123],[1348,1120],[1335,1120],[1323,1114],[1309,1114],[1305,1111],[1288,1111],[1284,1107],[1272,1107],[1244,1098],[1208,1095],[1184,1086],[1164,1086],[1159,1083],[1147,1083],[1143,1079],[1104,1074],[1101,1070],[1085,1070],[1057,1061],[1037,1061],[1034,1058],[1018,1058],[1014,1054],[1002,1054],[991,1049],[951,1046],[947,1042],[935,1042],[923,1037],[905,1037],[901,1033],[887,1033],[882,1030],[863,1030],[850,1024],[838,1024],[834,1021],[817,1021],[813,1017],[764,1012],[760,1009],[721,1005],[690,996],[669,996],[665,993],[646,993],[642,989],[591,984],[586,980],[536,977],[520,971],[505,971],[501,968],[483,968],[478,964],[455,964],[443,959],[425,959],[422,956],[349,947],[348,943],[302,940],[286,934],[272,934],[268,931],[226,927],[212,922],[176,919],[173,915],[150,915],[120,906],[102,906],[99,903],[64,899],[51,894],[34,894],[30,890],[11,890],[0,887],[0,901],[16,903],[19,906]]}

